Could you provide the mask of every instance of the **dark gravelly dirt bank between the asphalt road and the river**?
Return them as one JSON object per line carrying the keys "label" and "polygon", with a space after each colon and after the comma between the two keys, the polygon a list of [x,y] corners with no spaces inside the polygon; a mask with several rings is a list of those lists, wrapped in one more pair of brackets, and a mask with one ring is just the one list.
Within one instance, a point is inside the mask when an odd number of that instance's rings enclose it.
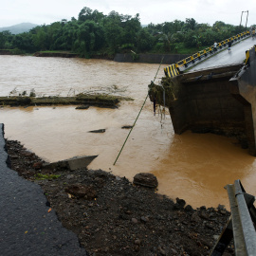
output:
{"label": "dark gravelly dirt bank between the asphalt road and the river", "polygon": [[40,184],[90,255],[208,255],[229,218],[221,206],[193,210],[101,170],[44,171],[44,160],[18,141],[7,140],[7,148],[12,170]]}

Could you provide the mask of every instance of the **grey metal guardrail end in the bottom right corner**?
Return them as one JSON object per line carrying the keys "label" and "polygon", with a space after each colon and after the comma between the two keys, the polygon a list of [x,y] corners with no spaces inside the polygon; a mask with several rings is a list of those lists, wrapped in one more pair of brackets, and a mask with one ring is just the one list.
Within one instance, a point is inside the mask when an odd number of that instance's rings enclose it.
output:
{"label": "grey metal guardrail end in the bottom right corner", "polygon": [[210,252],[210,256],[222,255],[234,239],[236,256],[256,255],[256,209],[253,206],[255,197],[248,194],[241,181],[235,180],[234,184],[225,187],[229,194],[229,204],[231,216],[223,229],[215,246]]}

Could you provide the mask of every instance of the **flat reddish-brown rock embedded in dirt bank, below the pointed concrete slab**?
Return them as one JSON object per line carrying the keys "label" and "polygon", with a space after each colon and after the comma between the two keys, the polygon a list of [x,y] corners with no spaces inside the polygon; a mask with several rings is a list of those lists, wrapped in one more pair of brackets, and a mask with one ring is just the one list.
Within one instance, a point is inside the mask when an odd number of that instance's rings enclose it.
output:
{"label": "flat reddish-brown rock embedded in dirt bank, below the pointed concrete slab", "polygon": [[68,186],[64,191],[71,193],[76,197],[83,197],[87,200],[93,200],[95,197],[97,197],[97,192],[92,186],[82,186],[80,184],[76,184]]}

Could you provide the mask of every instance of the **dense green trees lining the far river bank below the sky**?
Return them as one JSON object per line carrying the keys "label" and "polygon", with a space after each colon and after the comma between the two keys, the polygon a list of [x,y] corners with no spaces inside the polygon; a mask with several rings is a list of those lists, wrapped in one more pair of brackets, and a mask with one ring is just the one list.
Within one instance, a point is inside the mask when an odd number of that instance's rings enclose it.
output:
{"label": "dense green trees lining the far river bank below the sky", "polygon": [[97,9],[83,8],[78,19],[62,20],[32,28],[29,32],[0,32],[0,49],[12,53],[64,50],[89,58],[112,56],[117,52],[192,53],[245,31],[246,27],[216,21],[213,26],[198,24],[193,18],[142,27],[139,14],[122,15],[111,11],[104,15]]}

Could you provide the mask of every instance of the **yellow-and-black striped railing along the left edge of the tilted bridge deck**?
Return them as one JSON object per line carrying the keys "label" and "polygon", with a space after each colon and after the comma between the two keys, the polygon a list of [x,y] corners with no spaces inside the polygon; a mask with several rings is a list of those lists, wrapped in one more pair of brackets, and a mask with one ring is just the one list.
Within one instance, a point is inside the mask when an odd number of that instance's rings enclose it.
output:
{"label": "yellow-and-black striped railing along the left edge of the tilted bridge deck", "polygon": [[[245,31],[243,33],[239,33],[235,36],[229,37],[228,39],[217,43],[217,48],[221,49],[222,47],[227,46],[230,41],[237,42],[237,41],[240,41],[241,39],[247,37],[248,35],[250,35],[250,32]],[[179,74],[181,68],[187,68],[190,64],[194,64],[195,62],[202,60],[202,58],[206,58],[208,55],[210,55],[212,53],[213,53],[213,46],[210,46],[210,47],[207,47],[203,50],[200,50],[200,51],[192,54],[192,56],[189,56],[179,62],[176,62],[174,64],[174,67],[176,69],[176,71],[174,73]],[[165,75],[168,77],[173,77],[172,74],[170,76],[170,72],[166,72],[166,70],[168,70],[168,67],[166,67],[164,69]]]}

